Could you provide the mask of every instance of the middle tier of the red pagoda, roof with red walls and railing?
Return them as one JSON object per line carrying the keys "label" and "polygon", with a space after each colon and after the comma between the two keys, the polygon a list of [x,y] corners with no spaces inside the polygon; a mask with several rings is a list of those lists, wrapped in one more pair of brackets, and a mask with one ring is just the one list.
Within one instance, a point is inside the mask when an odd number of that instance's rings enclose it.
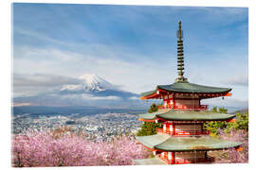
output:
{"label": "middle tier of the red pagoda, roof with red walls and railing", "polygon": [[205,122],[233,122],[235,117],[233,114],[208,110],[167,110],[139,114],[138,116],[139,121],[161,123],[162,128],[158,128],[157,132],[163,132],[171,136],[210,134],[209,131],[203,129]]}

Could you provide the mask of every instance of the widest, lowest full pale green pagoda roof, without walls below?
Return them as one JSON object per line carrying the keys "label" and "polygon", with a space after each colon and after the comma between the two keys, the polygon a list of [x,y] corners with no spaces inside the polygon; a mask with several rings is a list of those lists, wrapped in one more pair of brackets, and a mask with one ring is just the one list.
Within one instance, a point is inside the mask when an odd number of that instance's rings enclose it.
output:
{"label": "widest, lowest full pale green pagoda roof, without walls below", "polygon": [[151,149],[173,152],[221,150],[242,144],[210,136],[172,137],[167,134],[137,136],[137,141]]}

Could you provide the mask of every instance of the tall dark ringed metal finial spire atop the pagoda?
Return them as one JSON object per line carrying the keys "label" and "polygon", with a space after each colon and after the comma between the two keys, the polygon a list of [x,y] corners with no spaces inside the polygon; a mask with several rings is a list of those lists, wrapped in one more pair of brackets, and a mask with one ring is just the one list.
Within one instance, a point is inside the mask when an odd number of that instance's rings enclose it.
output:
{"label": "tall dark ringed metal finial spire atop the pagoda", "polygon": [[177,71],[178,77],[175,78],[175,82],[188,82],[188,78],[184,77],[184,58],[183,58],[183,31],[181,30],[181,21],[178,21],[177,30]]}

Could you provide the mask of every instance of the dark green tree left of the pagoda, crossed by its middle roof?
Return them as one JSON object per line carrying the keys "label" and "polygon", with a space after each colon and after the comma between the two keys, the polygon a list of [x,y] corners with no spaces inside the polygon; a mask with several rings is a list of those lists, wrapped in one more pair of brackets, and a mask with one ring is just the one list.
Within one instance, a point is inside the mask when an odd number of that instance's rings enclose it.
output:
{"label": "dark green tree left of the pagoda, crossed by its middle roof", "polygon": [[[150,106],[150,109],[148,110],[149,114],[157,111],[158,108],[155,105],[155,103],[153,103]],[[156,128],[160,128],[161,124],[159,123],[155,123],[155,122],[144,122],[140,129],[137,131],[137,136],[148,136],[148,135],[154,135],[156,134]]]}

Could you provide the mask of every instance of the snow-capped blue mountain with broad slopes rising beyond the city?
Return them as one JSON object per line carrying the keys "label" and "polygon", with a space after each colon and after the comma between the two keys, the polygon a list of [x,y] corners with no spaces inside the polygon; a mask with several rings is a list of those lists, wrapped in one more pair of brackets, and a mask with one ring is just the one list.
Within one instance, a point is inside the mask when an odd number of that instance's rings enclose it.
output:
{"label": "snow-capped blue mountain with broad slopes rising beyond the city", "polygon": [[31,106],[97,106],[103,108],[141,108],[139,94],[120,90],[101,76],[85,74],[78,77],[81,84],[64,84],[50,93],[13,98],[14,105],[19,103]]}

